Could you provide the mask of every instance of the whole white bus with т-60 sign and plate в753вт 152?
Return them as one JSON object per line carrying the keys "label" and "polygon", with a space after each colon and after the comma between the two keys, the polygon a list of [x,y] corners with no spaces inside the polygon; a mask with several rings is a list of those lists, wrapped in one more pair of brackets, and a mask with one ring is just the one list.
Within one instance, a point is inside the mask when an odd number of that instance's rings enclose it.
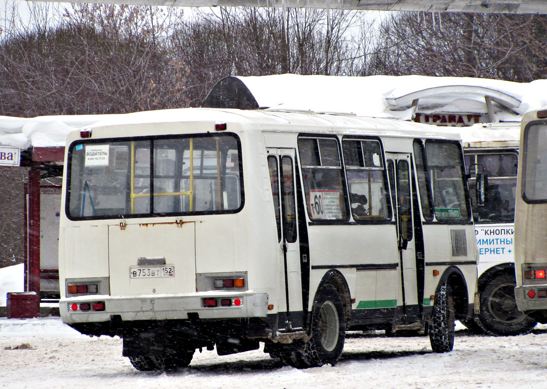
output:
{"label": "whole white bus with \u0442-60 sign and plate \u0432753\u0432\u0442 152", "polygon": [[[427,134],[427,135],[426,135]],[[196,349],[334,364],[345,332],[473,313],[476,241],[458,133],[274,110],[124,115],[69,135],[60,311],[138,370]]]}

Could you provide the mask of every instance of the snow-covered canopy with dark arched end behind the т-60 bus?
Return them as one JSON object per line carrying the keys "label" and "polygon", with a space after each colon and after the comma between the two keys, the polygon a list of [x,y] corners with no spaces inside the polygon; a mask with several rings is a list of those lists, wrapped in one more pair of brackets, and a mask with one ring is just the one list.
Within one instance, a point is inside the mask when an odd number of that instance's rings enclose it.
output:
{"label": "snow-covered canopy with dark arched end behind the \u0442-60 bus", "polygon": [[[472,125],[519,122],[527,110],[547,104],[546,88],[547,80],[520,83],[419,75],[229,76],[218,81],[202,107],[298,109]],[[455,119],[459,123],[449,123],[455,113],[462,114]]]}

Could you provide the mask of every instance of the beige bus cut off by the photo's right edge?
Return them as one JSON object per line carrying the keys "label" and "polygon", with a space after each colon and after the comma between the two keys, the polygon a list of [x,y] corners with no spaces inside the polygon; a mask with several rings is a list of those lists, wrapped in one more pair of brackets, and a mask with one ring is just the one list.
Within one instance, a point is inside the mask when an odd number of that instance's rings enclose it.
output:
{"label": "beige bus cut off by the photo's right edge", "polygon": [[547,323],[547,107],[522,117],[515,206],[515,297]]}

